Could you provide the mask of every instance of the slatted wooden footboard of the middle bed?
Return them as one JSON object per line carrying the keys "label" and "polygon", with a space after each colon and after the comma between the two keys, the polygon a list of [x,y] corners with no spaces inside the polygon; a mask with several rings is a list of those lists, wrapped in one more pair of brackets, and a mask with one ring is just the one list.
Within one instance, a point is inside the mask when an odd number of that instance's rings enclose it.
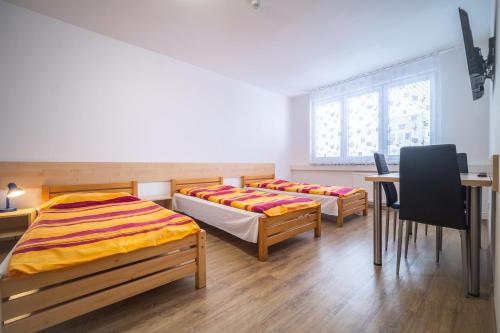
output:
{"label": "slatted wooden footboard of the middle bed", "polygon": [[262,217],[259,220],[259,260],[266,261],[269,246],[314,230],[321,237],[321,207],[305,208],[281,216]]}

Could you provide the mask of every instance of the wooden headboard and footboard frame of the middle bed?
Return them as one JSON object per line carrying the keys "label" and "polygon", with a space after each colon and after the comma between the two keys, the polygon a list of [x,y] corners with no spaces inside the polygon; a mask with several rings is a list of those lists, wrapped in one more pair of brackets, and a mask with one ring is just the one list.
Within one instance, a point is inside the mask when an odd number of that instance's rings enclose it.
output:
{"label": "wooden headboard and footboard frame of the middle bed", "polygon": [[[197,179],[172,179],[172,197],[184,187],[212,186],[224,183],[222,177]],[[280,216],[259,219],[258,248],[260,261],[266,261],[269,247],[301,233],[314,230],[314,236],[321,236],[320,207],[305,208]]]}

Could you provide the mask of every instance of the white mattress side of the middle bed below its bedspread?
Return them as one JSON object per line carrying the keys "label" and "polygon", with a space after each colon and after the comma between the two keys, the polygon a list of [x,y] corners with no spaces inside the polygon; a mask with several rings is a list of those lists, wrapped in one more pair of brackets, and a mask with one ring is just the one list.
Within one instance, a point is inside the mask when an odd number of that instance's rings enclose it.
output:
{"label": "white mattress side of the middle bed below its bedspread", "polygon": [[172,206],[175,211],[252,243],[258,240],[259,218],[265,216],[180,193],[174,194]]}

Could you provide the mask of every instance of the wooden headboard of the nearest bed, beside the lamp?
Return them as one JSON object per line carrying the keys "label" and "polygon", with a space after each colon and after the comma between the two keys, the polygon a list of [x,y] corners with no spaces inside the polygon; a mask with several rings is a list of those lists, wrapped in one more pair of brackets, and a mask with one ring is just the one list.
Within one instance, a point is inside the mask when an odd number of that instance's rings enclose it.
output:
{"label": "wooden headboard of the nearest bed, beside the lamp", "polygon": [[127,192],[137,196],[137,182],[107,183],[107,184],[79,184],[79,185],[43,185],[42,201],[63,194],[75,192]]}

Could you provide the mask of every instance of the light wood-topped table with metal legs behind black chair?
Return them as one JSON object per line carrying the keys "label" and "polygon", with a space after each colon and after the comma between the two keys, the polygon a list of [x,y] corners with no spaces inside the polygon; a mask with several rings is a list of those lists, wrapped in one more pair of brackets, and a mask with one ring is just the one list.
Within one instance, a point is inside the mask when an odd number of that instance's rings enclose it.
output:
{"label": "light wood-topped table with metal legs behind black chair", "polygon": [[[481,247],[481,190],[492,184],[490,177],[478,177],[477,174],[461,174],[462,185],[470,192],[468,254],[470,258],[469,294],[479,296],[479,253]],[[381,183],[398,183],[399,173],[366,176],[365,180],[373,182],[373,263],[382,266],[382,192]]]}

